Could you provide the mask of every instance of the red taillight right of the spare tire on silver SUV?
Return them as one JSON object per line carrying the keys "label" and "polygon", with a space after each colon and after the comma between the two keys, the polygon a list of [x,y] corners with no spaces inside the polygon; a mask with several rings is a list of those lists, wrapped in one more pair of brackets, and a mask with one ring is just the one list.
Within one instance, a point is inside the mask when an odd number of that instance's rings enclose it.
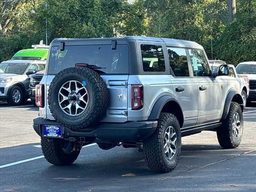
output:
{"label": "red taillight right of the spare tire on silver SUV", "polygon": [[142,85],[132,85],[132,109],[138,110],[143,106]]}

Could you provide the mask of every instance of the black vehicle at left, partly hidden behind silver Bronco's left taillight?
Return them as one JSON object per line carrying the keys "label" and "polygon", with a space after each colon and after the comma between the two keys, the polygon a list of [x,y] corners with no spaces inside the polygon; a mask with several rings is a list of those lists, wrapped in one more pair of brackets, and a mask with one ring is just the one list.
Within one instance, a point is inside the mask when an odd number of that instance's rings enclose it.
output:
{"label": "black vehicle at left, partly hidden behind silver Bronco's left taillight", "polygon": [[44,70],[38,71],[37,73],[31,75],[29,87],[28,87],[28,94],[30,96],[31,103],[36,106],[36,98],[35,98],[35,91],[36,85],[40,83],[44,76]]}

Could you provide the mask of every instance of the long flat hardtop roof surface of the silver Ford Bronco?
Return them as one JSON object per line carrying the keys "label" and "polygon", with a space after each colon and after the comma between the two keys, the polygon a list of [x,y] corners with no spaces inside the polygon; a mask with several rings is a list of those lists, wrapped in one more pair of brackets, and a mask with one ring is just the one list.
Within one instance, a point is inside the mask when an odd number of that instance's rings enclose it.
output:
{"label": "long flat hardtop roof surface of the silver Ford Bronco", "polygon": [[125,36],[125,37],[121,37],[121,38],[88,38],[88,39],[56,38],[52,42],[62,42],[62,41],[97,41],[97,40],[153,41],[153,42],[164,42],[166,44],[166,46],[203,49],[203,47],[200,44],[198,44],[196,42],[193,42],[193,41],[170,39],[170,38],[160,38],[160,37],[145,37],[145,36]]}

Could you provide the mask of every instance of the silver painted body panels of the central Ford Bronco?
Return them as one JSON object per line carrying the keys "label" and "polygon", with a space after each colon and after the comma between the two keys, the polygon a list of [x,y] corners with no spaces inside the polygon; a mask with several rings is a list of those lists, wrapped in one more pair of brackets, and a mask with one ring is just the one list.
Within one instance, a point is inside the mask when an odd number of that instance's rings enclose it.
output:
{"label": "silver painted body panels of the central Ford Bronco", "polygon": [[[222,117],[224,103],[231,89],[240,90],[238,81],[231,76],[214,77],[174,77],[171,74],[143,72],[140,44],[162,45],[165,62],[169,63],[166,46],[195,48],[204,52],[195,42],[162,38],[164,42],[137,40],[139,75],[101,75],[109,92],[109,105],[101,122],[126,122],[148,120],[154,104],[162,96],[170,96],[178,101],[184,115],[183,128],[218,122]],[[204,52],[206,57],[206,54]],[[207,60],[207,57],[206,57]],[[207,60],[208,61],[208,60]],[[209,65],[209,63],[208,63]],[[48,89],[54,75],[44,75],[41,84],[45,86],[45,106],[40,108],[40,117],[54,120],[48,106]],[[132,110],[131,85],[143,85],[143,108]],[[207,90],[200,91],[200,86]],[[175,88],[182,86],[183,92]]]}

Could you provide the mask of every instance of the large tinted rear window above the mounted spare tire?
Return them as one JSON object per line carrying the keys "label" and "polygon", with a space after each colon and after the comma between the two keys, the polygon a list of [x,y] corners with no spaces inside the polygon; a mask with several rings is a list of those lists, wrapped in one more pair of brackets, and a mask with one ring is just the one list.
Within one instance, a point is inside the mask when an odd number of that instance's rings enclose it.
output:
{"label": "large tinted rear window above the mounted spare tire", "polygon": [[60,51],[60,46],[52,46],[48,74],[57,74],[76,63],[102,67],[98,70],[106,74],[128,74],[128,46],[117,45],[116,49],[111,45],[65,46],[64,51]]}

